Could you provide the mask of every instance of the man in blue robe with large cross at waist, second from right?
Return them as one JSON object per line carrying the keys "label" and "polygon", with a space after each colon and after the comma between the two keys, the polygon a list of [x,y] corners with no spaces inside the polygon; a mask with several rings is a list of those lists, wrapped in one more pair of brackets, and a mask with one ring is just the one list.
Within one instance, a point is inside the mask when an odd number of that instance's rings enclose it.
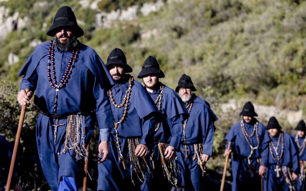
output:
{"label": "man in blue robe with large cross at waist, second from right", "polygon": [[269,142],[267,176],[263,178],[265,191],[293,191],[300,171],[298,149],[294,139],[283,132],[275,117],[271,117],[267,130],[272,141]]}

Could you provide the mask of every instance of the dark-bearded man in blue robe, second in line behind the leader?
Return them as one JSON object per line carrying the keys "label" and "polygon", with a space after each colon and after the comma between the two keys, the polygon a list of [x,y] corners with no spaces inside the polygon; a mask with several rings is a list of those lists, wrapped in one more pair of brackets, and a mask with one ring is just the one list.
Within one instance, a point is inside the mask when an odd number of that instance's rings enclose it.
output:
{"label": "dark-bearded man in blue robe, second in line behind the leader", "polygon": [[151,173],[148,151],[153,147],[154,129],[162,116],[144,86],[127,74],[132,68],[121,49],[111,51],[106,68],[115,82],[108,91],[115,127],[110,156],[98,164],[98,190],[141,190],[142,182]]}

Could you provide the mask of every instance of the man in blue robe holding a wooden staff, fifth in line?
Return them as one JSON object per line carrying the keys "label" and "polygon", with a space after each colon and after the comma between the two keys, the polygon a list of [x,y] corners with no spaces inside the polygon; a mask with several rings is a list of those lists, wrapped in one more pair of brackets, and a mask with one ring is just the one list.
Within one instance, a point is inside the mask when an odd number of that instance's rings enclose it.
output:
{"label": "man in blue robe holding a wooden staff, fifth in line", "polygon": [[[266,172],[268,142],[271,141],[265,126],[255,116],[253,104],[248,101],[236,122],[225,137],[231,148],[224,156],[232,156],[232,190],[261,190],[260,176]],[[261,158],[260,158],[261,157]]]}

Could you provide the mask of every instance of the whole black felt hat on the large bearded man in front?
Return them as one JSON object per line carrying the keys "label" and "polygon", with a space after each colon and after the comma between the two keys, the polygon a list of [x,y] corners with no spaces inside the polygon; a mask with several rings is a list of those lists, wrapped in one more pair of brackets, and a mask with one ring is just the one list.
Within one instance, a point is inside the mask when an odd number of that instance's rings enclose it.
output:
{"label": "whole black felt hat on the large bearded man in front", "polygon": [[63,6],[58,9],[47,35],[54,36],[59,27],[72,27],[73,34],[75,34],[77,38],[84,35],[84,31],[77,24],[76,16],[69,6]]}

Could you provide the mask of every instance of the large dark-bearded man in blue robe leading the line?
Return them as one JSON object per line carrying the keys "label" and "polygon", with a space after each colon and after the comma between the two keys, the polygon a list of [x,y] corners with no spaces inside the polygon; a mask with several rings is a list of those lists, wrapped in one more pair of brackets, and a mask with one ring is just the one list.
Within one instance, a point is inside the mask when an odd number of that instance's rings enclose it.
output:
{"label": "large dark-bearded man in blue robe leading the line", "polygon": [[101,162],[109,154],[114,123],[106,91],[113,82],[98,54],[77,40],[84,31],[70,7],[58,9],[47,35],[53,39],[38,45],[18,72],[24,76],[17,100],[25,105],[35,91],[34,103],[41,111],[36,126],[38,154],[50,188],[78,190],[96,122],[99,154],[104,153]]}

